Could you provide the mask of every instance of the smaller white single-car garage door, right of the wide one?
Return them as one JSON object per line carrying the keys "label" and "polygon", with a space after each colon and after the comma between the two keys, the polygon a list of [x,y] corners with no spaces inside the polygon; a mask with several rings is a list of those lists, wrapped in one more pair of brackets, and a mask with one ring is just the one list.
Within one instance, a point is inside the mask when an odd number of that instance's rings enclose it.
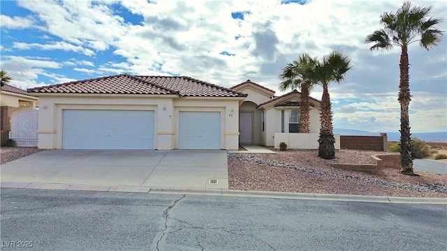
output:
{"label": "smaller white single-car garage door, right of the wide one", "polygon": [[221,113],[179,112],[179,149],[221,149]]}

